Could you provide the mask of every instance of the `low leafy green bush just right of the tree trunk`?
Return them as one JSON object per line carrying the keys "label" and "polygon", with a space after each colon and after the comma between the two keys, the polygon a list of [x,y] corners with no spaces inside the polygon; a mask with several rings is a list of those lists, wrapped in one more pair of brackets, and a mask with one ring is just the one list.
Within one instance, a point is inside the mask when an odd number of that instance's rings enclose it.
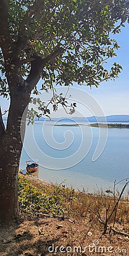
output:
{"label": "low leafy green bush just right of the tree trunk", "polygon": [[[57,192],[56,192],[57,191]],[[33,216],[46,214],[63,214],[65,209],[62,205],[62,194],[45,191],[36,188],[23,176],[19,176],[18,199],[20,213],[27,213]]]}

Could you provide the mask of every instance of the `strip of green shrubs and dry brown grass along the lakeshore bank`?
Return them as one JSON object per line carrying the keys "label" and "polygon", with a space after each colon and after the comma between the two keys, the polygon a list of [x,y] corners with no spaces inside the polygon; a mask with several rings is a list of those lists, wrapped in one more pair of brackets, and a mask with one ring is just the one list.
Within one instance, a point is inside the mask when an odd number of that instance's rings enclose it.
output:
{"label": "strip of green shrubs and dry brown grass along the lakeshore bank", "polygon": [[[113,196],[112,191],[98,191],[96,194],[88,194],[66,188],[65,185],[53,185],[42,183],[41,180],[30,176],[19,176],[19,207],[21,213],[29,216],[42,216],[42,214],[58,215],[69,217],[89,218],[90,221],[106,218],[113,212],[114,206],[119,198],[119,192]],[[129,222],[128,198],[119,200],[116,221],[120,224]],[[109,224],[114,221],[115,211],[112,214]]]}

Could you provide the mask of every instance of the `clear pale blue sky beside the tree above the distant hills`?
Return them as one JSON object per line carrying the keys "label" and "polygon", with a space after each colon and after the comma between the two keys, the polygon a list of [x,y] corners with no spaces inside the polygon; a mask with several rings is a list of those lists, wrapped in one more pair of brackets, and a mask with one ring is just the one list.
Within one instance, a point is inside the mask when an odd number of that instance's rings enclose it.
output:
{"label": "clear pale blue sky beside the tree above the distant hills", "polygon": [[[117,40],[119,48],[117,57],[108,60],[107,68],[114,62],[122,65],[123,70],[115,81],[102,82],[98,88],[94,86],[90,89],[88,86],[78,86],[75,88],[83,89],[93,96],[100,104],[105,115],[111,114],[129,114],[129,26],[121,28],[122,32],[117,35],[111,35]],[[81,101],[81,98],[79,99]],[[9,101],[0,97],[2,112],[8,109]],[[85,113],[87,116],[91,115]],[[56,113],[59,117],[59,113]],[[78,115],[78,114],[75,114]],[[64,113],[63,116],[66,116]]]}

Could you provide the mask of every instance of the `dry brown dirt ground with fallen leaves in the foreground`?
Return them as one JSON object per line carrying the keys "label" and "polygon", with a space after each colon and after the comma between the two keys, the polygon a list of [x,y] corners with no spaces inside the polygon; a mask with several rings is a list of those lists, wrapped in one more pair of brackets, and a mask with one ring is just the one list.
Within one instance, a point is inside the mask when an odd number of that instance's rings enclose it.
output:
{"label": "dry brown dirt ground with fallen leaves in the foreground", "polygon": [[[33,184],[36,181],[38,187],[51,186],[33,177],[28,179]],[[87,218],[21,216],[18,224],[0,228],[0,256],[129,255],[128,236],[110,230],[102,236],[102,230],[101,224],[90,224]]]}

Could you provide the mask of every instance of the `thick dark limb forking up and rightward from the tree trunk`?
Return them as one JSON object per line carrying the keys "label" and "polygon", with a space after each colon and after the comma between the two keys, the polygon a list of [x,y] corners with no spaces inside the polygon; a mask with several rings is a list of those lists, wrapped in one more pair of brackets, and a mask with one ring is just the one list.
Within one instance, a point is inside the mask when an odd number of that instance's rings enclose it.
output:
{"label": "thick dark limb forking up and rightward from the tree trunk", "polygon": [[27,84],[29,84],[30,86],[30,91],[32,91],[33,88],[35,88],[37,82],[40,80],[42,68],[44,68],[46,64],[55,59],[55,57],[60,55],[62,52],[63,48],[58,48],[45,59],[42,59],[38,55],[33,55],[33,57],[35,57],[35,60],[31,62],[31,71],[26,79]]}

